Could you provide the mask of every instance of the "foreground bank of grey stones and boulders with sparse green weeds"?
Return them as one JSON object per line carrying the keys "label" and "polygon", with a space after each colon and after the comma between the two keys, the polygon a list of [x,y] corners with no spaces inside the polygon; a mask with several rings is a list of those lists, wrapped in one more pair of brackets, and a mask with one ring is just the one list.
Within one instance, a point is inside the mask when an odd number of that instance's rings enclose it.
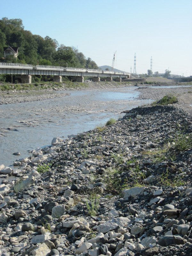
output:
{"label": "foreground bank of grey stones and boulders with sparse green weeds", "polygon": [[191,131],[182,108],[138,107],[2,165],[1,255],[191,256]]}

